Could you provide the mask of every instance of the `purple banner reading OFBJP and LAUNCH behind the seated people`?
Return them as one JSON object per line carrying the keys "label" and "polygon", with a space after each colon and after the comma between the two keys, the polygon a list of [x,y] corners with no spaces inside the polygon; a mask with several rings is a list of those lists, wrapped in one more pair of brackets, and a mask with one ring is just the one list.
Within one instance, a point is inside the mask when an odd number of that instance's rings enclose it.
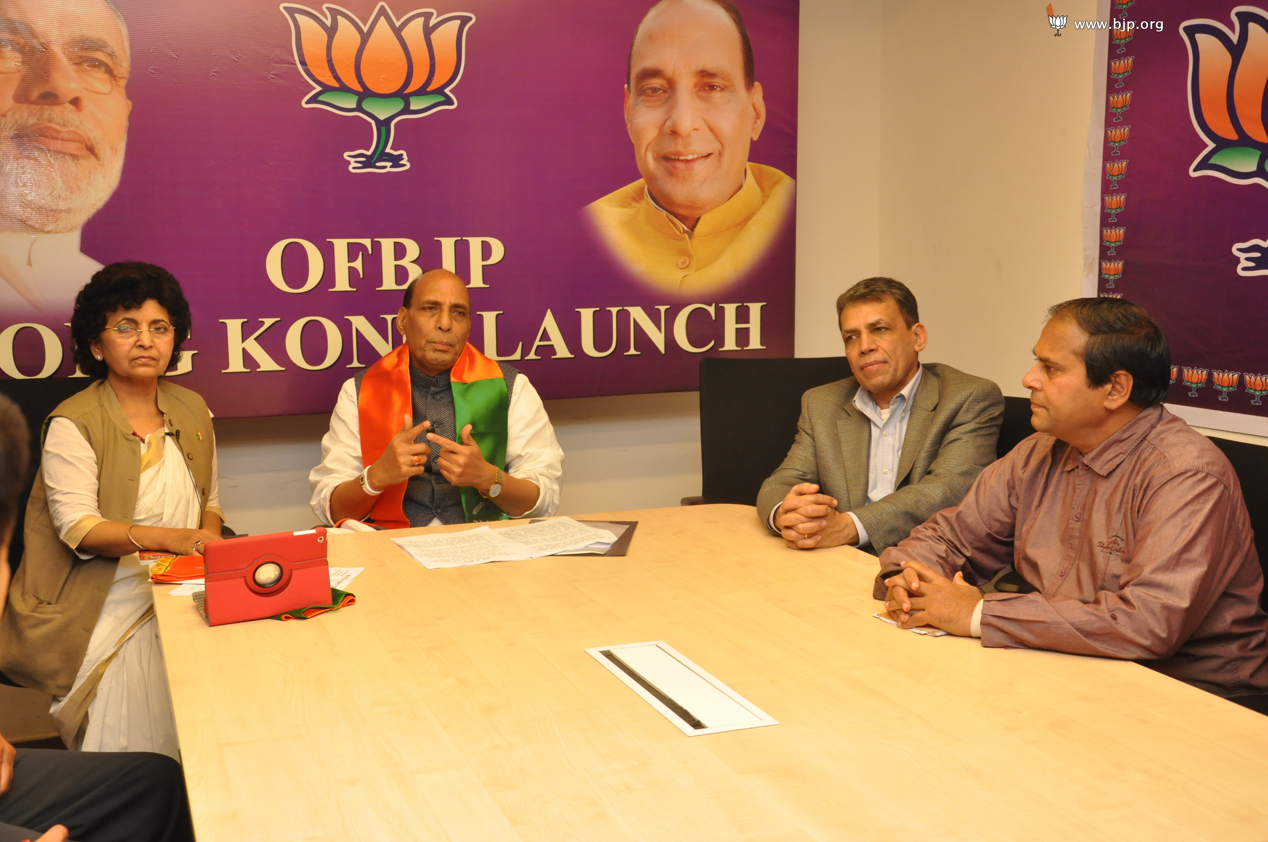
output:
{"label": "purple banner reading OFBJP and LAUNCH behind the seated people", "polygon": [[115,6],[0,0],[3,377],[75,373],[118,260],[181,282],[170,374],[222,417],[330,411],[432,266],[547,398],[792,354],[796,0],[739,4],[753,86],[721,6],[649,19],[628,107],[649,0]]}

